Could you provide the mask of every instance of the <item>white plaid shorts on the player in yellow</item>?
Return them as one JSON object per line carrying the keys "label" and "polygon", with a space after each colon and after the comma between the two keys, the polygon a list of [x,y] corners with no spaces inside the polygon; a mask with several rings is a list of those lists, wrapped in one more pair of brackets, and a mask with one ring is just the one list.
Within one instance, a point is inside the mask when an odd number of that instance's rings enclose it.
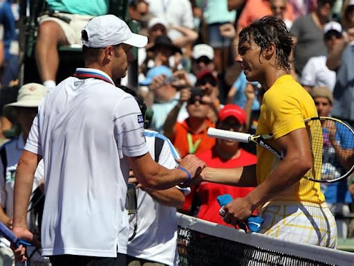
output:
{"label": "white plaid shorts on the player in yellow", "polygon": [[271,202],[260,215],[264,222],[259,233],[266,236],[333,249],[337,245],[335,218],[326,203]]}

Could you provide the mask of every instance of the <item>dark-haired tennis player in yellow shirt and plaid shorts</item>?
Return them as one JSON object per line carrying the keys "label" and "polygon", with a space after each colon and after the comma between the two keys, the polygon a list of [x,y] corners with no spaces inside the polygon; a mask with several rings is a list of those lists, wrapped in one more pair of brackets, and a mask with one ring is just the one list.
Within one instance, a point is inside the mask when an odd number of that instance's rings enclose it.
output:
{"label": "dark-haired tennis player in yellow shirt and plaid shorts", "polygon": [[207,167],[200,180],[193,182],[256,186],[246,197],[225,206],[225,222],[236,225],[259,208],[264,220],[260,233],[335,248],[335,219],[319,183],[302,178],[315,160],[304,119],[317,116],[317,109],[308,92],[290,76],[291,35],[280,19],[263,17],[241,31],[238,50],[235,60],[248,81],[258,81],[264,91],[256,134],[272,133],[270,145],[282,152],[283,160],[257,145],[257,165]]}

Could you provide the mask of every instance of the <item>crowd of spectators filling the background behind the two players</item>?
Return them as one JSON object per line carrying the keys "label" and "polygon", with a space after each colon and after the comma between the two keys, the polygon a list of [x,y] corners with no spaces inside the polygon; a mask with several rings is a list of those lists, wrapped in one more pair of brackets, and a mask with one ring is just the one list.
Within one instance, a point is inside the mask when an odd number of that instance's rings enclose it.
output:
{"label": "crowd of spectators filling the background behind the two players", "polygon": [[[112,10],[110,3],[46,0],[34,49],[46,89],[58,82],[58,46],[80,47],[81,29],[92,17]],[[149,38],[147,46],[138,49],[138,87],[133,89],[145,101],[147,114],[152,114],[149,130],[164,134],[180,157],[196,154],[208,166],[221,168],[256,162],[252,145],[216,141],[207,136],[207,128],[252,133],[257,128],[262,89],[246,80],[234,56],[242,28],[265,15],[283,19],[292,33],[292,76],[313,96],[319,115],[335,116],[354,126],[354,0],[129,0],[128,6],[127,17],[137,21],[140,33]],[[0,0],[1,90],[21,85],[18,19],[16,1]],[[120,82],[127,85],[127,80]],[[1,103],[6,103],[1,96]],[[1,115],[2,141],[10,138],[9,132],[22,132],[19,138],[26,141],[25,129],[16,130],[21,123]],[[32,115],[28,112],[28,117]],[[4,194],[8,182],[13,182],[14,165],[3,161],[0,165],[0,221],[10,227]],[[335,215],[354,212],[354,177],[323,189]],[[224,224],[216,210],[216,196],[243,197],[250,190],[202,183],[192,188],[180,211]],[[340,237],[354,237],[348,220],[338,226]]]}

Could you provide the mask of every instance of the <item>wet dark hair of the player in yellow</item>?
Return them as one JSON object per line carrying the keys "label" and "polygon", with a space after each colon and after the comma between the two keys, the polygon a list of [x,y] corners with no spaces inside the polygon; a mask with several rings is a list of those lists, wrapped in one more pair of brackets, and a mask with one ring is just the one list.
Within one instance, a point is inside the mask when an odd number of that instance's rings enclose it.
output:
{"label": "wet dark hair of the player in yellow", "polygon": [[292,50],[292,39],[286,24],[277,17],[262,17],[254,21],[250,26],[243,28],[239,35],[239,47],[244,42],[254,42],[261,51],[270,44],[276,48],[277,66],[290,72],[291,61],[290,53]]}

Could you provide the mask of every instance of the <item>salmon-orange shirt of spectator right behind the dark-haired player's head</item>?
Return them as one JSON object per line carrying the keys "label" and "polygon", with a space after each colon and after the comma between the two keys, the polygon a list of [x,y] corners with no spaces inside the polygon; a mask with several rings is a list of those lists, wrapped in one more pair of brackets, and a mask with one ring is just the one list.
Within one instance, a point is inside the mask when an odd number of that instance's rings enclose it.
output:
{"label": "salmon-orange shirt of spectator right behind the dark-haired player's head", "polygon": [[[270,10],[268,0],[248,0],[237,24],[241,28],[245,28],[250,26],[253,21],[269,15],[272,15],[272,10]],[[286,4],[285,18],[294,21],[294,13],[289,3]]]}

